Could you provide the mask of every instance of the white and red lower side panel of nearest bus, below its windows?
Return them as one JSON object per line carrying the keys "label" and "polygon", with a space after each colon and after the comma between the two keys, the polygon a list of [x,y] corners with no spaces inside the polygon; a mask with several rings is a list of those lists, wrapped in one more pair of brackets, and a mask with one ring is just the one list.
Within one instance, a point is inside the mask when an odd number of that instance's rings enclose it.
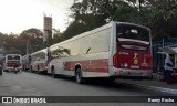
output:
{"label": "white and red lower side panel of nearest bus, below its windows", "polygon": [[[77,64],[81,66],[83,73],[85,73],[83,74],[84,77],[92,77],[91,74],[94,72],[108,73],[108,52],[54,59],[49,63],[48,73],[51,73],[51,68],[54,66],[55,74],[74,76],[75,66]],[[86,74],[86,72],[92,73]]]}

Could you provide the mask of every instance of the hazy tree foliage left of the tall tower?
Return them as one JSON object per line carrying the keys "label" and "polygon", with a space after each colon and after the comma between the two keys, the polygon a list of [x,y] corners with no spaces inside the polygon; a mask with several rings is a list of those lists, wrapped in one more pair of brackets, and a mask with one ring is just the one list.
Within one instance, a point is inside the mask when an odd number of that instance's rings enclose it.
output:
{"label": "hazy tree foliage left of the tall tower", "polygon": [[43,33],[38,29],[29,29],[18,34],[0,33],[0,45],[6,53],[18,53],[24,55],[28,52],[32,53],[43,46]]}

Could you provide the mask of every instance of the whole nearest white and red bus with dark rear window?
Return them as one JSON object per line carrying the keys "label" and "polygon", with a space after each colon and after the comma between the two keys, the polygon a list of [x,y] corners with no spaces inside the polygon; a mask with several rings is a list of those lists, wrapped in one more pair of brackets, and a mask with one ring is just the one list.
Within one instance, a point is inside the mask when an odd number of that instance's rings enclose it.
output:
{"label": "whole nearest white and red bus with dark rear window", "polygon": [[106,25],[49,47],[48,73],[86,78],[152,78],[150,29],[127,22]]}

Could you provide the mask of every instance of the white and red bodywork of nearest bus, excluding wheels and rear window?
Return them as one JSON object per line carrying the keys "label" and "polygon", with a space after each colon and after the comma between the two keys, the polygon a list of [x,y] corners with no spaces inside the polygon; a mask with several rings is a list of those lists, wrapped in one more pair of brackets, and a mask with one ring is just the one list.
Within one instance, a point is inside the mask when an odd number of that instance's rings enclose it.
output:
{"label": "white and red bodywork of nearest bus, excluding wheels and rear window", "polygon": [[[117,42],[116,36],[117,24],[123,24],[123,26],[127,25],[140,28],[144,30],[147,29],[145,26],[132,23],[111,22],[95,30],[82,33],[61,43],[51,45],[50,52],[52,55],[52,60],[48,64],[48,73],[51,74],[52,70],[54,70],[54,74],[75,76],[75,70],[77,66],[80,66],[80,68],[82,70],[82,77],[150,77],[152,41],[149,40],[149,45],[146,43],[144,44],[149,49],[148,51],[134,51],[121,49],[117,45],[117,43],[119,42]],[[138,41],[137,44],[144,43],[140,40],[129,40],[128,42],[136,41],[136,43]],[[121,41],[119,43],[124,44],[124,41]],[[126,53],[128,53],[128,55],[126,55]],[[135,55],[143,56],[134,59]],[[139,67],[136,65],[138,65]]]}

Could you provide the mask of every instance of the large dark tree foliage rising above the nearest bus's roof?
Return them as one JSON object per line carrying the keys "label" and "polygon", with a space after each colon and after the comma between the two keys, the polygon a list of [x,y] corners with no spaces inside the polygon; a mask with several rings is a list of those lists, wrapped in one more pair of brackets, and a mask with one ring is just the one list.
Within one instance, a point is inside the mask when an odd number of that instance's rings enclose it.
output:
{"label": "large dark tree foliage rising above the nearest bus's roof", "polygon": [[63,33],[65,39],[112,20],[146,25],[153,40],[176,35],[177,0],[75,0],[70,9],[73,21]]}

